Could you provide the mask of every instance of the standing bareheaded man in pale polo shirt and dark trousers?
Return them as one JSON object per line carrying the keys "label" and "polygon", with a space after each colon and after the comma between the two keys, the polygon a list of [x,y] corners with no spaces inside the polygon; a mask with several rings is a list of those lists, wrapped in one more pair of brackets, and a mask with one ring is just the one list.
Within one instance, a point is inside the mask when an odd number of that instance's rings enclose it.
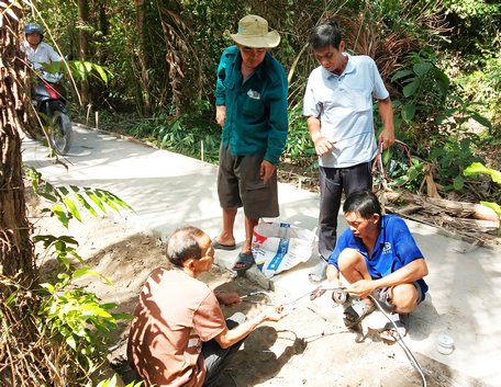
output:
{"label": "standing bareheaded man in pale polo shirt and dark trousers", "polygon": [[372,103],[377,100],[383,122],[378,138],[383,148],[394,141],[389,92],[376,62],[368,56],[344,53],[345,42],[336,22],[315,26],[310,46],[320,66],[308,80],[303,115],[320,166],[319,253],[311,278],[325,277],[325,261],[336,246],[337,214],[344,192],[371,190],[371,161],[378,145]]}

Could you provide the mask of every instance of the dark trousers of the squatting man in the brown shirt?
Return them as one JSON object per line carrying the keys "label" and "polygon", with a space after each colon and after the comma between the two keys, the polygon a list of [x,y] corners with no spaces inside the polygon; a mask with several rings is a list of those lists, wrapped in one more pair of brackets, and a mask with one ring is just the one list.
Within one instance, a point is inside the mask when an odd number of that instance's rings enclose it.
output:
{"label": "dark trousers of the squatting man in the brown shirt", "polygon": [[[238,322],[227,319],[226,326],[229,329],[233,329],[238,326]],[[222,349],[215,339],[202,344],[202,356],[205,358],[207,368],[205,380],[202,387],[209,387],[221,376],[221,372],[227,366],[231,357],[238,351],[245,339],[242,339],[227,349]]]}

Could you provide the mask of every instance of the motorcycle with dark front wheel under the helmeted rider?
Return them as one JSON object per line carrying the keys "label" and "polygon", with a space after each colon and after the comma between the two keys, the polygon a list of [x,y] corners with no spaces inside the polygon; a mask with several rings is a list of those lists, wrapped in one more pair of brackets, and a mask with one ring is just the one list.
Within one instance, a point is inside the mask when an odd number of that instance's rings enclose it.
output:
{"label": "motorcycle with dark front wheel under the helmeted rider", "polygon": [[71,148],[71,122],[66,109],[66,91],[60,84],[63,75],[42,70],[35,86],[32,103],[48,124],[48,140],[58,155]]}

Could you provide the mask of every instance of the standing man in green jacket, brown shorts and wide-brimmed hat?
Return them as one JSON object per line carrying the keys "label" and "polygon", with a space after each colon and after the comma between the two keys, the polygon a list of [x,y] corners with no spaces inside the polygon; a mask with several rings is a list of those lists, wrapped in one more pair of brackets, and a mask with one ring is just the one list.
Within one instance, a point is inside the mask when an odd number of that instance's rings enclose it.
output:
{"label": "standing man in green jacket, brown shorts and wide-brimmed hat", "polygon": [[287,77],[268,53],[280,35],[268,31],[265,19],[247,15],[230,36],[236,45],[221,57],[215,89],[215,118],[223,128],[218,173],[223,227],[213,244],[235,249],[233,226],[243,206],[245,241],[233,270],[245,271],[254,263],[254,227],[261,217],[279,215],[277,164],[288,132]]}

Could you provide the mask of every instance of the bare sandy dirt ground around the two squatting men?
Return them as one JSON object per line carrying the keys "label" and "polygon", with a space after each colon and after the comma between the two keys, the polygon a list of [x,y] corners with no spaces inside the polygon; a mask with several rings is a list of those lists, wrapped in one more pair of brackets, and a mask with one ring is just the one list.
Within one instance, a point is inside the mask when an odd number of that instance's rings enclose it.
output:
{"label": "bare sandy dirt ground around the two squatting men", "polygon": [[[149,272],[166,264],[162,240],[127,229],[118,215],[114,219],[85,216],[82,224],[73,220],[69,229],[65,229],[54,218],[40,219],[34,204],[31,206],[35,234],[73,236],[80,243],[79,253],[87,265],[113,282],[110,286],[97,276],[86,276],[78,284],[87,286],[102,300],[116,303],[115,311],[132,314]],[[54,261],[47,252],[38,251],[38,254],[42,276],[49,280],[57,274]],[[234,277],[216,266],[200,280],[212,288],[241,295],[260,291],[248,280]],[[256,315],[281,304],[283,297],[279,292],[258,294],[224,312],[226,316],[234,311]],[[289,315],[281,321],[265,323],[250,333],[215,387],[422,385],[420,374],[398,344],[382,342],[372,332],[357,342],[360,338],[344,327],[339,307],[333,307],[329,294],[314,301],[307,296],[287,307]],[[126,338],[127,323],[121,322],[110,342],[113,348],[110,363],[120,364],[124,360]],[[415,355],[428,386],[455,385],[447,368]]]}

